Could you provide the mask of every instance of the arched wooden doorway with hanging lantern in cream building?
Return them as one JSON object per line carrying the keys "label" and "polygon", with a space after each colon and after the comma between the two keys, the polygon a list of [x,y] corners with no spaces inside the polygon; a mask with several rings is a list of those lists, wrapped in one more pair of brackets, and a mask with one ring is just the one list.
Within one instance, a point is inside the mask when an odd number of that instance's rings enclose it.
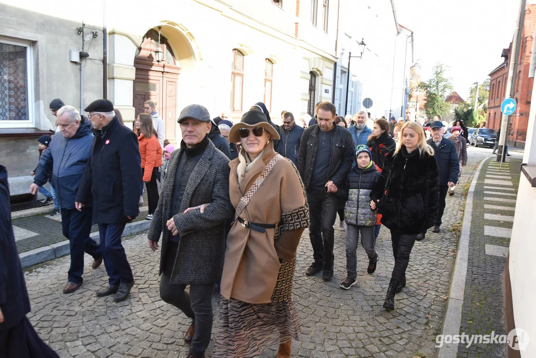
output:
{"label": "arched wooden doorway with hanging lantern in cream building", "polygon": [[[160,48],[163,60],[157,62],[154,51]],[[134,60],[136,78],[134,80],[133,104],[135,115],[143,113],[146,100],[157,101],[157,111],[166,128],[165,139],[172,143],[176,140],[177,125],[177,81],[181,65],[175,59],[173,49],[165,36],[151,29],[144,36],[142,45]]]}

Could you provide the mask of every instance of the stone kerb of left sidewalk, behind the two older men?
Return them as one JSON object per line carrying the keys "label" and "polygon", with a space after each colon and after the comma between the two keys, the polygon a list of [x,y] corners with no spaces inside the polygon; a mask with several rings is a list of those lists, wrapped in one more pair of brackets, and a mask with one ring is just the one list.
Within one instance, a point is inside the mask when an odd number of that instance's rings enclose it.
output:
{"label": "stone kerb of left sidewalk, behind the two older men", "polygon": [[[132,235],[140,231],[147,230],[151,225],[150,220],[140,220],[125,225],[125,229],[121,237]],[[90,237],[95,239],[99,243],[99,231],[92,232]],[[57,259],[59,257],[69,254],[69,240],[64,240],[62,242],[39,247],[38,249],[30,250],[19,254],[20,263],[23,265],[23,268],[41,264],[42,262]]]}

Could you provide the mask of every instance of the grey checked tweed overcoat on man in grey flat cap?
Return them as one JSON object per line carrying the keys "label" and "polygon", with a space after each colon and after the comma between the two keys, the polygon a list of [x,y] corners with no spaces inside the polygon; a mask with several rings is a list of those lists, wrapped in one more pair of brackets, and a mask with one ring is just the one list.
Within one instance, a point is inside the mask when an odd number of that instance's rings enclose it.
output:
{"label": "grey checked tweed overcoat on man in grey flat cap", "polygon": [[[170,232],[166,222],[172,217],[175,172],[184,150],[175,150],[168,162],[157,210],[151,222],[148,239],[158,242],[162,234],[159,274],[166,258]],[[234,214],[229,199],[229,159],[209,141],[193,168],[184,190],[181,210],[173,216],[180,242],[170,284],[209,284],[221,276],[224,265],[225,222]],[[184,210],[210,203],[203,214]]]}

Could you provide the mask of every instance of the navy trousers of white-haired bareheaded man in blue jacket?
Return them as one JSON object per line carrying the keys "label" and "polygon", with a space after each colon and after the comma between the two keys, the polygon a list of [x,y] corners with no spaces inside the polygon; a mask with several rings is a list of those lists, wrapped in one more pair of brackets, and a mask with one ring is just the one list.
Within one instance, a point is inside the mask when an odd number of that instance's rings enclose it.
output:
{"label": "navy trousers of white-haired bareheaded man in blue jacket", "polygon": [[92,208],[62,210],[63,236],[69,239],[71,266],[69,282],[81,283],[84,273],[84,252],[100,259],[102,252],[99,245],[90,237]]}

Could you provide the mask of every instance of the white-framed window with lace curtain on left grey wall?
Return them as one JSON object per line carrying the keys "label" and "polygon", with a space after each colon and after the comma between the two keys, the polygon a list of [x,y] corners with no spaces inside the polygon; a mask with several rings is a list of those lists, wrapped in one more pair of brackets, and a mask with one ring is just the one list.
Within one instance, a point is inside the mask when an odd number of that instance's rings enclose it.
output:
{"label": "white-framed window with lace curtain on left grey wall", "polygon": [[34,127],[32,47],[0,38],[0,127]]}

